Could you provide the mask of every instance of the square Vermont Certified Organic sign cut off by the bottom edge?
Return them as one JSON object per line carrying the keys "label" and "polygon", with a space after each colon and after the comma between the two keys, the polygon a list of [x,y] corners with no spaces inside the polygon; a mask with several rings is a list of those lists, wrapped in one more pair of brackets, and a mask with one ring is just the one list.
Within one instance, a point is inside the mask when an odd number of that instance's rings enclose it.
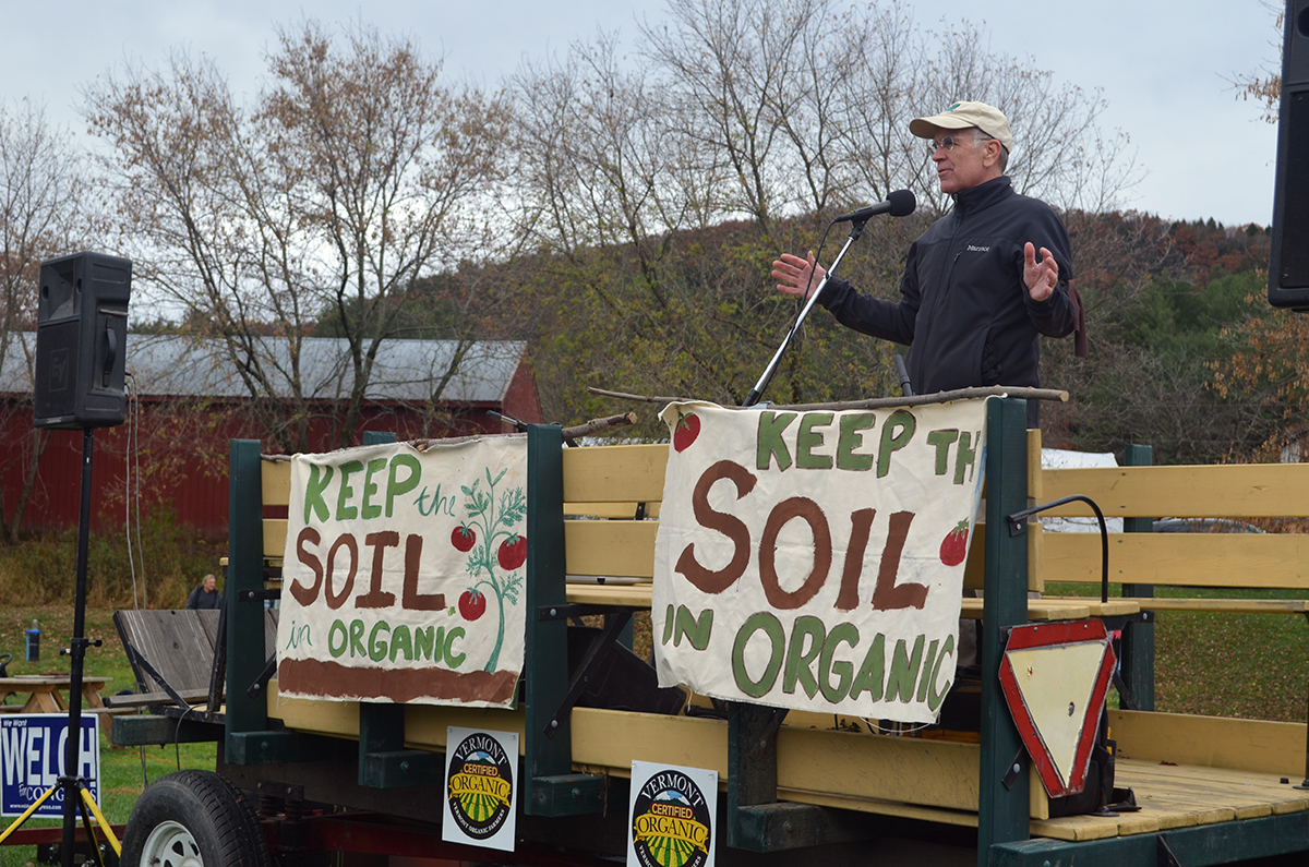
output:
{"label": "square Vermont Certified Organic sign cut off by the bottom edge", "polygon": [[713,867],[719,775],[632,762],[628,867]]}

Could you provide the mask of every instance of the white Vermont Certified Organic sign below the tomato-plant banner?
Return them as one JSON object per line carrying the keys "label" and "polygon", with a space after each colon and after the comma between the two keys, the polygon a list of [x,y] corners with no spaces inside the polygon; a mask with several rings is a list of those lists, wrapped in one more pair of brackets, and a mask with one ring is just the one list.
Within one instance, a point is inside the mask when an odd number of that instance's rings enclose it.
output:
{"label": "white Vermont Certified Organic sign below the tomato-plant banner", "polygon": [[517,732],[449,727],[441,839],[513,851]]}

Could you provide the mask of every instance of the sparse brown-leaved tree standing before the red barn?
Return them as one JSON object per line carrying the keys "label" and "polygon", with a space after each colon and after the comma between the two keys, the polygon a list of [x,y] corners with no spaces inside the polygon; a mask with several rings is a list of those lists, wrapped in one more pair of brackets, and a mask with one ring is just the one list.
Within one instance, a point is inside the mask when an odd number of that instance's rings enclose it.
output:
{"label": "sparse brown-leaved tree standing before the red barn", "polygon": [[[308,448],[323,398],[344,405],[344,445],[419,279],[479,249],[505,107],[364,25],[279,30],[266,62],[249,107],[212,63],[174,55],[99,80],[85,113],[137,284],[216,342],[283,449]],[[343,350],[313,381],[304,341],[329,318]]]}

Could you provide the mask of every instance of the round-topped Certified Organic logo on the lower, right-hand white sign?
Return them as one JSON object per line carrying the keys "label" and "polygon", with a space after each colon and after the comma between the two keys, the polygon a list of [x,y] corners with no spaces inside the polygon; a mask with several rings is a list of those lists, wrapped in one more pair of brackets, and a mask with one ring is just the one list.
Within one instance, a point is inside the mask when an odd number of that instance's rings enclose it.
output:
{"label": "round-topped Certified Organic logo on the lower, right-hand white sign", "polygon": [[709,857],[711,804],[675,770],[653,774],[632,807],[632,842],[643,867],[702,867]]}

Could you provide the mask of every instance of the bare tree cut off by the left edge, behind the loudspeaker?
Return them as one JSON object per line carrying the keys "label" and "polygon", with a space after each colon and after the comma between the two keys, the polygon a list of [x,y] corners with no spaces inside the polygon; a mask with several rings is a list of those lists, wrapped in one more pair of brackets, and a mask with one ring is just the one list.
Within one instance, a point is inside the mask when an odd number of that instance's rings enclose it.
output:
{"label": "bare tree cut off by the left edge, behind the loudspeaker", "polygon": [[[84,244],[88,213],[82,158],[65,130],[39,107],[0,105],[0,361],[10,384],[21,382],[9,413],[31,409],[37,289],[41,262]],[[0,503],[0,541],[18,532],[50,437],[33,431],[20,456],[3,468],[21,479],[18,496]]]}

